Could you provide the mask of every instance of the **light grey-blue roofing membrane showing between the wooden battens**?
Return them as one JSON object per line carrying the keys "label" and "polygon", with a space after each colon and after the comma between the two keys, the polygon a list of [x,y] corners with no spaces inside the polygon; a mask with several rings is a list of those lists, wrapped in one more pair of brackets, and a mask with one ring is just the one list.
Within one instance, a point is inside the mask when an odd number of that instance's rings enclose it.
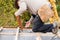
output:
{"label": "light grey-blue roofing membrane showing between the wooden battens", "polygon": [[[6,35],[0,34],[0,40],[15,40],[15,38],[16,38],[16,35],[11,35],[11,34],[8,35],[8,33],[16,33],[16,29],[3,29],[0,33],[7,33]],[[34,32],[32,32],[32,30],[30,30],[30,29],[26,29],[26,30],[23,30],[22,33],[32,33],[33,34]],[[29,34],[25,34],[25,35],[29,35]],[[36,40],[36,37],[37,36],[35,36],[35,35],[33,35],[33,36],[21,36],[19,34],[18,40]],[[42,36],[41,35],[40,37],[42,40],[51,40],[53,36],[48,36],[48,35]],[[53,38],[53,40],[60,40],[60,38],[56,37],[56,38]]]}

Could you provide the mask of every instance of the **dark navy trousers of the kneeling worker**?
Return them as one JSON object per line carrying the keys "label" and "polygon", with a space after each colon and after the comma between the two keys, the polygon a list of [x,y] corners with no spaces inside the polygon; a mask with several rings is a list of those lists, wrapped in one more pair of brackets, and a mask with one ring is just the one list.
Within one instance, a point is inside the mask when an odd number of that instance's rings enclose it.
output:
{"label": "dark navy trousers of the kneeling worker", "polygon": [[33,27],[32,31],[33,32],[52,32],[53,29],[53,24],[44,24],[42,20],[39,18],[39,16],[36,16],[35,19],[33,20]]}

